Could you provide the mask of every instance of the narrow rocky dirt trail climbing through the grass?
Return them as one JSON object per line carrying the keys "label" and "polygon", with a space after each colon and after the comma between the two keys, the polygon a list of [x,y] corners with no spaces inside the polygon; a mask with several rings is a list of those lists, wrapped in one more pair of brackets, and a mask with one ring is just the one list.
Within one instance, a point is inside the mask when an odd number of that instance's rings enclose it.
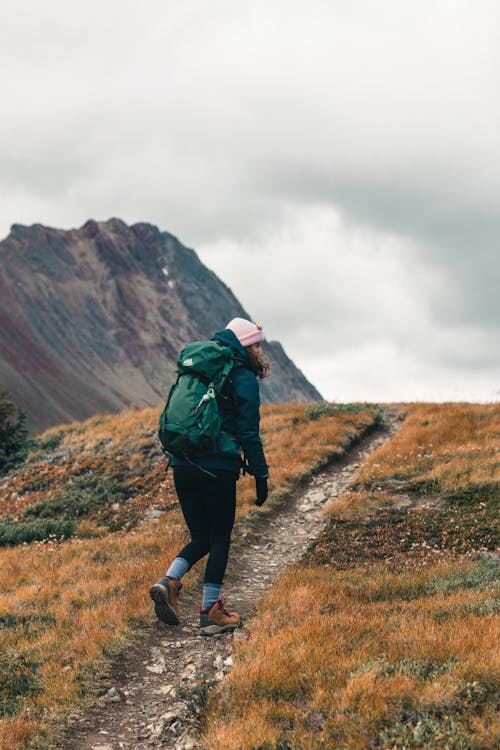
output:
{"label": "narrow rocky dirt trail climbing through the grass", "polygon": [[[360,464],[395,430],[391,420],[281,504],[256,511],[249,524],[235,528],[224,581],[232,609],[245,618],[254,614],[259,595],[318,537],[323,506],[349,487]],[[141,636],[116,665],[109,691],[89,711],[74,715],[64,750],[202,750],[199,715],[206,686],[228,673],[235,642],[246,635],[245,628],[198,635],[198,601],[181,601],[182,624],[157,622]]]}

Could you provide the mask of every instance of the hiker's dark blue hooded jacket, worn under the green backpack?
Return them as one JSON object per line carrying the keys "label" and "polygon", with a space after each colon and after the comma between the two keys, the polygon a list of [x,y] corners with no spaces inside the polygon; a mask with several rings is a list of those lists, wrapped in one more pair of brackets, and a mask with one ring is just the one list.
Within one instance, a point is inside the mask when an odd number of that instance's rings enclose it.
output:
{"label": "hiker's dark blue hooded jacket, worn under the green backpack", "polygon": [[[269,468],[259,435],[259,382],[250,369],[248,352],[227,328],[216,333],[212,339],[229,346],[236,362],[222,392],[217,396],[222,416],[222,430],[238,442],[248,464],[249,473],[255,477],[267,477]],[[203,456],[193,463],[204,469],[223,469],[235,473],[239,473],[241,468],[237,457],[218,454]],[[179,456],[172,456],[174,467],[192,466],[193,463]]]}

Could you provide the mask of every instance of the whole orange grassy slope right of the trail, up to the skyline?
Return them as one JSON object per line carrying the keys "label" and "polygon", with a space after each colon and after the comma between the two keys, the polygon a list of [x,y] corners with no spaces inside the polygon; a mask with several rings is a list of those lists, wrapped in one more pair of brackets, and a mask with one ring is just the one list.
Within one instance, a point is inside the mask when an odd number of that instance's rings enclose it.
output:
{"label": "whole orange grassy slope right of the trail, up to the skyline", "polygon": [[500,407],[402,416],[260,603],[207,748],[500,746]]}

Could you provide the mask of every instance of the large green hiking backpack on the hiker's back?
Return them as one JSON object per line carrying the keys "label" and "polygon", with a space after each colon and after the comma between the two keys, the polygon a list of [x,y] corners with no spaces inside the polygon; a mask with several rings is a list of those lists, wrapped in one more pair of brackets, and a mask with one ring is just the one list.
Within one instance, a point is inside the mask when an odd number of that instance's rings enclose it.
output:
{"label": "large green hiking backpack on the hiker's back", "polygon": [[234,438],[222,433],[217,394],[233,369],[233,353],[216,341],[195,341],[177,357],[177,382],[160,415],[158,437],[167,453],[188,460],[224,453],[240,456]]}

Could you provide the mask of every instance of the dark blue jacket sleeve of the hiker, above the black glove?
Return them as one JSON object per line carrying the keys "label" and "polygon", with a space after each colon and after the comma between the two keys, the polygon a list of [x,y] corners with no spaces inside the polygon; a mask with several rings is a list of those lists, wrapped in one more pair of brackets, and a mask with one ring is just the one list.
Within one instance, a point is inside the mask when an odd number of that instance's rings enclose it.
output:
{"label": "dark blue jacket sleeve of the hiker, above the black glove", "polygon": [[236,438],[248,461],[250,474],[260,478],[267,477],[269,468],[259,436],[259,383],[255,375],[245,367],[233,370],[232,380],[236,403]]}

